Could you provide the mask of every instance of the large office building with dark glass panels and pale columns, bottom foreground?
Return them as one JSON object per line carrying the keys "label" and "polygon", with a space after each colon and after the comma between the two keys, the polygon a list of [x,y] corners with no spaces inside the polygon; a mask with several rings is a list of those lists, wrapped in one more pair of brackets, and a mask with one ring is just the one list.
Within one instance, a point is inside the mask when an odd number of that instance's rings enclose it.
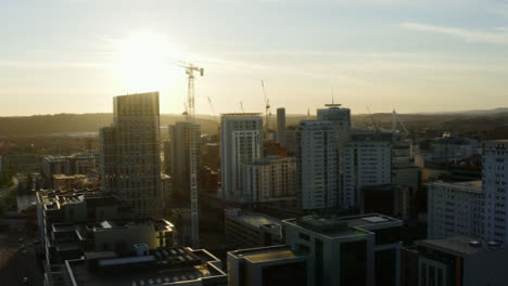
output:
{"label": "large office building with dark glass panels and pale columns, bottom foreground", "polygon": [[402,221],[382,214],[282,221],[285,244],[308,253],[310,286],[399,283]]}

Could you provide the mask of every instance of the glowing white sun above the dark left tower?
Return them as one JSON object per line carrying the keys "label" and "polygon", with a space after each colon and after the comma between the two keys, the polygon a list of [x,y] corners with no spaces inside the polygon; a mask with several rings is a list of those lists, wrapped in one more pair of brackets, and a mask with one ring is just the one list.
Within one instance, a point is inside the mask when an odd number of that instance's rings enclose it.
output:
{"label": "glowing white sun above the dark left tower", "polygon": [[181,78],[174,63],[185,55],[161,35],[132,32],[115,46],[116,74],[129,93],[160,91]]}

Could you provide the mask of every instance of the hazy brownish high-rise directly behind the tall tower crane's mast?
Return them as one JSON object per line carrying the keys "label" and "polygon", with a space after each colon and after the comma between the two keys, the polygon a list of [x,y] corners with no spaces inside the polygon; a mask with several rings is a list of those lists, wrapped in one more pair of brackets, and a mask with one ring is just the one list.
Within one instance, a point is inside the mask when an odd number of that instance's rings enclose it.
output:
{"label": "hazy brownish high-rise directly behind the tall tower crane's mast", "polygon": [[[190,122],[176,122],[175,125],[168,127],[170,142],[169,154],[167,156],[169,159],[168,174],[173,177],[174,192],[178,192],[183,197],[190,197]],[[201,129],[199,125],[193,125],[192,134],[194,135],[195,144],[199,145],[201,135]]]}

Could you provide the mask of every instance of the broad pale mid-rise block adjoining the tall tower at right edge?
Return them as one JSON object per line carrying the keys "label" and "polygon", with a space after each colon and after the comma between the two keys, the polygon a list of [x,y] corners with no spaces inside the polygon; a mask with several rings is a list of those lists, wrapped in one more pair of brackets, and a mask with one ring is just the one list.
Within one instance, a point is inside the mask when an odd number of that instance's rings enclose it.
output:
{"label": "broad pale mid-rise block adjoining the tall tower at right edge", "polygon": [[428,183],[428,238],[484,236],[485,194],[481,181]]}

